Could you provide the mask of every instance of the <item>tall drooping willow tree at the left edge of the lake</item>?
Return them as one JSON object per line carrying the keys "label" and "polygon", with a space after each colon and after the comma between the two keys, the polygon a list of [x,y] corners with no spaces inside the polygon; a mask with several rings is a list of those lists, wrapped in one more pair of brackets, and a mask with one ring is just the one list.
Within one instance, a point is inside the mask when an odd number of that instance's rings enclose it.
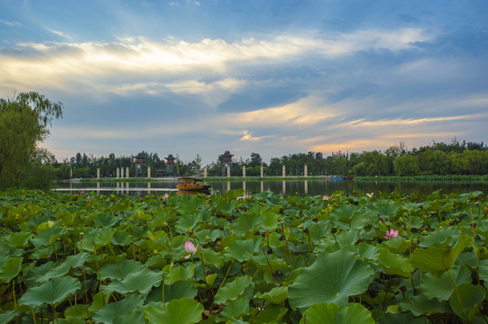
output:
{"label": "tall drooping willow tree at the left edge of the lake", "polygon": [[52,119],[62,117],[62,108],[36,92],[0,98],[0,187],[19,183],[50,134]]}

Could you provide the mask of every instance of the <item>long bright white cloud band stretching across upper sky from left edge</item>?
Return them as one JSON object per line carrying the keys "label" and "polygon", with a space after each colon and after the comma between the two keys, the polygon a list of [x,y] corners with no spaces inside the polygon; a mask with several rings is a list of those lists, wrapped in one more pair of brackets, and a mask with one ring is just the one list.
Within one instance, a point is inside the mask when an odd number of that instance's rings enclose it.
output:
{"label": "long bright white cloud band stretching across upper sky from left edge", "polygon": [[[49,31],[69,39],[62,31]],[[229,70],[261,64],[278,65],[299,59],[302,55],[324,58],[349,55],[368,49],[410,49],[415,41],[432,36],[421,30],[355,31],[330,35],[279,35],[268,39],[253,38],[235,42],[204,39],[153,41],[124,38],[118,42],[51,42],[17,45],[23,55],[0,54],[0,85],[14,87],[50,86],[65,91],[110,91],[107,84],[117,80],[126,86],[132,77],[159,78],[174,92],[214,90],[197,81],[202,76],[226,76],[222,86],[239,86]],[[197,77],[199,76],[199,77]],[[229,81],[234,84],[228,84]],[[223,82],[223,81],[220,81]],[[195,85],[189,89],[188,85]],[[227,83],[227,84],[226,84]],[[76,84],[75,89],[69,86]],[[141,84],[141,83],[140,83]],[[214,85],[215,86],[215,85]]]}

